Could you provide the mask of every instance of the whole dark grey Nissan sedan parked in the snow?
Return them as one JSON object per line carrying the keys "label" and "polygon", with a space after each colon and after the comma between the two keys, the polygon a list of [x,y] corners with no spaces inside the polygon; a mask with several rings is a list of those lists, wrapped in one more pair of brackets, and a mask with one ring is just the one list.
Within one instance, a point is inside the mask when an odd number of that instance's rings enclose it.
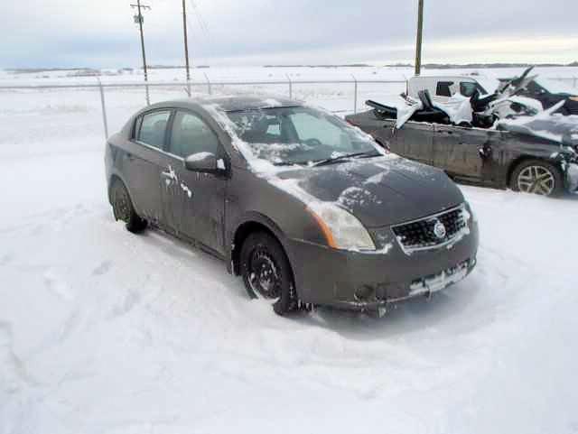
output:
{"label": "whole dark grey Nissan sedan parked in the snow", "polygon": [[382,314],[476,264],[477,220],[443,171],[294,101],[148,106],[110,137],[105,161],[129,231],[153,226],[199,246],[278,314]]}

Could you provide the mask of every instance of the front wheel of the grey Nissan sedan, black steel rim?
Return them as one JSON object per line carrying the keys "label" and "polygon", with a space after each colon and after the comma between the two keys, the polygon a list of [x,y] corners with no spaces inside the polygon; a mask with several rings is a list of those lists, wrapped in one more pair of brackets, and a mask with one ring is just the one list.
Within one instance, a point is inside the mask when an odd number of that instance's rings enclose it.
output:
{"label": "front wheel of the grey Nissan sedan, black steel rim", "polygon": [[296,309],[291,264],[274,236],[266,232],[247,236],[241,247],[240,271],[249,297],[268,301],[277,315]]}

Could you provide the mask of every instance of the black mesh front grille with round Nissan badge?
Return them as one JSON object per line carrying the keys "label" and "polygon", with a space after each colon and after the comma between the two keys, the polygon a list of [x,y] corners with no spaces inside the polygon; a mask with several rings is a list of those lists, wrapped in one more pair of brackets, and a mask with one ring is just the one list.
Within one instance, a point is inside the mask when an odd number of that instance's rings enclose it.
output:
{"label": "black mesh front grille with round Nissan badge", "polygon": [[410,254],[449,245],[458,240],[467,234],[469,218],[465,206],[461,205],[430,217],[393,226],[392,230],[404,251]]}

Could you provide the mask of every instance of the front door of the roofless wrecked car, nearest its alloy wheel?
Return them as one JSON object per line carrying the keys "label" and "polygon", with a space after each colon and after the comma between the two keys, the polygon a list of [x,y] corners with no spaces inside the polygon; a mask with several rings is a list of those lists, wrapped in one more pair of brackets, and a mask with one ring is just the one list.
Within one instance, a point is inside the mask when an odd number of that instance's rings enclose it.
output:
{"label": "front door of the roofless wrecked car, nearest its alloy wheel", "polygon": [[489,176],[490,155],[500,141],[498,131],[434,125],[433,165],[464,180]]}

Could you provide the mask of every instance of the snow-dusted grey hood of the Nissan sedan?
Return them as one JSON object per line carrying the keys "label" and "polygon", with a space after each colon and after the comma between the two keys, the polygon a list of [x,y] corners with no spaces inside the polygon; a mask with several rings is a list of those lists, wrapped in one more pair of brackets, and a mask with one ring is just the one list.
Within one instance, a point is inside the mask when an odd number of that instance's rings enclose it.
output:
{"label": "snow-dusted grey hood of the Nissan sedan", "polygon": [[334,202],[367,227],[426,217],[464,200],[443,171],[396,155],[284,171],[276,178],[303,201]]}

